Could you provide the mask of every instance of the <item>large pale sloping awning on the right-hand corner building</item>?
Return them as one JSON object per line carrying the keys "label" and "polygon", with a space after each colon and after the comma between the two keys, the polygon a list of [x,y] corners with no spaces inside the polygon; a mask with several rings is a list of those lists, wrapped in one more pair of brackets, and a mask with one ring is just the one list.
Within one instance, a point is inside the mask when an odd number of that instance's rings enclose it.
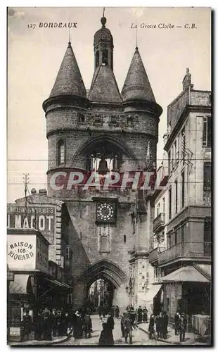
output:
{"label": "large pale sloping awning on the right-hand corner building", "polygon": [[161,277],[165,282],[210,282],[205,276],[200,274],[193,266],[184,266],[171,272],[165,277]]}

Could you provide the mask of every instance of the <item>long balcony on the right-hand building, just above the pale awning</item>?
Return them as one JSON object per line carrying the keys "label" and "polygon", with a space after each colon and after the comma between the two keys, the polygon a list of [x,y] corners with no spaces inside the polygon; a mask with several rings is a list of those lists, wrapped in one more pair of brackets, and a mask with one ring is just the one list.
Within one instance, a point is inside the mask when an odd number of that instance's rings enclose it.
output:
{"label": "long balcony on the right-hand building, just above the pale awning", "polygon": [[196,260],[203,258],[210,259],[210,256],[210,242],[180,242],[166,249],[166,251],[159,253],[158,261],[162,264],[178,258],[193,258]]}

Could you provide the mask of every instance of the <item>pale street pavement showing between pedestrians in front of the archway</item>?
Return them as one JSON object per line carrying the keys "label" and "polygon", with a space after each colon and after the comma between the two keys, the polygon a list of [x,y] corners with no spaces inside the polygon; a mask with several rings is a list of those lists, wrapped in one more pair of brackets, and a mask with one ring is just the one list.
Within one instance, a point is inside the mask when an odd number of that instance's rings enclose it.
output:
{"label": "pale street pavement showing between pedestrians in front of the archway", "polygon": [[[115,341],[115,345],[126,345],[124,342],[124,338],[122,338],[121,330],[120,330],[120,319],[115,319],[115,328],[113,330],[113,338]],[[68,341],[63,342],[63,344],[58,344],[58,346],[70,346],[70,345],[98,345],[98,339],[101,334],[101,322],[98,318],[98,315],[91,315],[93,333],[91,334],[90,339],[77,339],[75,340],[73,337],[68,339]],[[167,343],[162,343],[161,341],[149,340],[148,334],[146,332],[141,331],[139,328],[134,329],[132,332],[133,336],[133,346],[135,345],[167,345]],[[169,344],[168,344],[169,345]]]}

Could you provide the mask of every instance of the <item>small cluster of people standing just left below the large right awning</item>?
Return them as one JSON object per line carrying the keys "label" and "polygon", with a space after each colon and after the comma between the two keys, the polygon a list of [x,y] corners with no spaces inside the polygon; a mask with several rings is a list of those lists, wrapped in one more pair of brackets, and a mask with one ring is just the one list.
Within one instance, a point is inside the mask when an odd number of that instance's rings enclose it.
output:
{"label": "small cluster of people standing just left below the large right awning", "polygon": [[157,316],[151,314],[148,325],[149,339],[157,339],[158,337],[167,339],[168,321],[169,317],[165,311],[161,312]]}

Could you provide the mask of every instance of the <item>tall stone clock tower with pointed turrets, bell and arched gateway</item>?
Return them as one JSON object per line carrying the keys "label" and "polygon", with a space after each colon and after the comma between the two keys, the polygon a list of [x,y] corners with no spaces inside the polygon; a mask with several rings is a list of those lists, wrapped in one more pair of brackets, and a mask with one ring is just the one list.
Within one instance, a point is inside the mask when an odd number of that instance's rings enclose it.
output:
{"label": "tall stone clock tower with pointed turrets, bell and arched gateway", "polygon": [[[147,170],[156,161],[162,108],[155,102],[137,47],[120,94],[113,73],[113,36],[105,25],[103,17],[101,29],[94,34],[89,93],[69,42],[49,99],[43,103],[49,142],[47,175],[49,196],[67,205],[84,249],[75,253],[75,304],[82,304],[90,285],[103,278],[113,285],[113,303],[127,306],[129,253],[149,249],[143,196],[136,197],[136,191],[119,185],[70,187],[70,172],[79,170],[87,178],[98,172],[104,178],[113,171],[124,175]],[[58,173],[59,187],[58,183],[51,187]],[[132,208],[136,198],[141,199],[141,207],[135,226]],[[86,256],[87,264],[79,271],[81,256]]]}

